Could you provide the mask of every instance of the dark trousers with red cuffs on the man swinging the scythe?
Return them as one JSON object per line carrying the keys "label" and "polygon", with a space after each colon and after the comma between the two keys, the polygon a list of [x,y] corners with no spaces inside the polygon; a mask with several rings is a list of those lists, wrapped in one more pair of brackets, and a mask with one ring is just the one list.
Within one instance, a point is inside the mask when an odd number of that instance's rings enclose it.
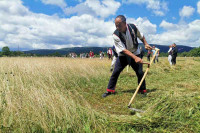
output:
{"label": "dark trousers with red cuffs on the man swinging the scythe", "polygon": [[[140,56],[140,55],[137,55]],[[132,58],[128,58],[126,56],[119,56],[117,58],[116,64],[115,64],[115,68],[114,71],[112,73],[112,76],[110,77],[110,81],[108,83],[108,87],[107,87],[107,91],[108,92],[115,92],[115,86],[117,84],[117,79],[120,75],[120,73],[122,72],[122,70],[127,66],[130,65],[133,70],[135,71],[137,78],[138,78],[138,84],[140,83],[144,72],[143,72],[143,66],[142,64],[137,64],[135,62],[135,60],[133,60]],[[146,84],[145,84],[145,80],[143,81],[140,90],[146,90]]]}

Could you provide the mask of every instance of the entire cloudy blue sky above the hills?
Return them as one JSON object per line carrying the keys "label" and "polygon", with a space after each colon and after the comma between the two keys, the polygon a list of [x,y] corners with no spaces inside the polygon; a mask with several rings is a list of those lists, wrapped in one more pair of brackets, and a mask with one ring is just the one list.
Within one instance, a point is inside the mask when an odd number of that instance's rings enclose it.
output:
{"label": "entire cloudy blue sky above the hills", "polygon": [[111,47],[117,15],[149,44],[200,46],[200,0],[0,0],[0,49]]}

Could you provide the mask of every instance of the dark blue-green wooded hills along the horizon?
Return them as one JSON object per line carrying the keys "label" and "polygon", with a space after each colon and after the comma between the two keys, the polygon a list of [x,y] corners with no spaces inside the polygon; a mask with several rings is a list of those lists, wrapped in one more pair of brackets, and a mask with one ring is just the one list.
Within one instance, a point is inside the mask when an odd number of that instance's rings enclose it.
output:
{"label": "dark blue-green wooded hills along the horizon", "polygon": [[[143,44],[139,44],[140,46],[144,47]],[[151,46],[155,46],[160,49],[160,52],[166,53],[169,50],[169,46],[165,45],[156,45],[156,44],[150,44]],[[193,47],[189,46],[181,46],[177,45],[179,53],[182,52],[188,52]],[[74,52],[76,54],[80,53],[89,53],[90,51],[93,51],[95,54],[99,54],[99,51],[106,52],[109,47],[72,47],[72,48],[62,48],[62,49],[38,49],[38,50],[29,50],[29,51],[24,51],[24,53],[32,53],[32,54],[39,54],[39,55],[49,55],[53,54],[55,52],[59,52],[61,55],[67,55],[71,52]],[[146,50],[145,50],[146,52]]]}

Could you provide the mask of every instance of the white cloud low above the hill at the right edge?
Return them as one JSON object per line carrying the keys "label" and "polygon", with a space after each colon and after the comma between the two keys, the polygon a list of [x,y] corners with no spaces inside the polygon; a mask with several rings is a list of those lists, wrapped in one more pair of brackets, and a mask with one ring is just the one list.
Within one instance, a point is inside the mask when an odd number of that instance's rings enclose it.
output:
{"label": "white cloud low above the hill at the right edge", "polygon": [[149,41],[151,43],[170,45],[175,42],[178,45],[199,47],[200,20],[194,20],[188,24],[172,24],[162,21],[160,27],[167,31],[161,34],[150,35]]}

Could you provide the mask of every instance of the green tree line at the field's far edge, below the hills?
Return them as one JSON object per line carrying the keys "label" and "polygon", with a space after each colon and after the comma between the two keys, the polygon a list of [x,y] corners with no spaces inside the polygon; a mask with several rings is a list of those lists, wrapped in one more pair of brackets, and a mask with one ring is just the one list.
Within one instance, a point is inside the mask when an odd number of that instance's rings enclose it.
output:
{"label": "green tree line at the field's far edge, below the hills", "polygon": [[[145,53],[146,55],[146,53]],[[48,55],[40,55],[40,54],[34,54],[34,53],[24,53],[22,51],[10,51],[10,48],[8,46],[5,46],[2,48],[2,51],[0,52],[0,56],[1,57],[17,57],[17,56],[21,56],[21,57],[29,57],[29,56],[35,56],[35,57],[41,57],[41,56],[50,56],[50,57],[64,57],[66,55],[61,55],[59,52],[55,52],[52,54],[48,54]],[[168,53],[164,53],[161,52],[160,53],[161,57],[167,57]],[[190,50],[189,52],[182,52],[182,53],[178,53],[179,57],[200,57],[200,47],[198,48],[194,48],[192,50]]]}

